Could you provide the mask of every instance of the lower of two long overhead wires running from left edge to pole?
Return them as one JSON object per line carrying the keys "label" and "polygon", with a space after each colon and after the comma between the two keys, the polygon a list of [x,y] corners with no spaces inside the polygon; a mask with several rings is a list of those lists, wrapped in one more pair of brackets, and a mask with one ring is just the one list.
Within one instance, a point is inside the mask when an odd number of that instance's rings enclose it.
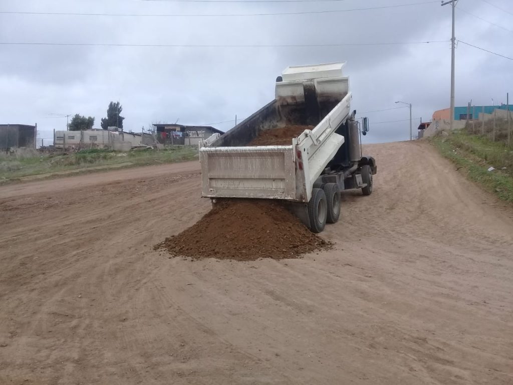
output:
{"label": "lower of two long overhead wires running from left edge to pole", "polygon": [[263,45],[194,45],[194,44],[104,44],[104,43],[33,43],[0,42],[0,45],[26,46],[87,46],[87,47],[164,47],[164,48],[307,48],[307,47],[346,47],[346,46],[387,46],[409,44],[447,43],[447,40],[432,42],[388,42],[388,43],[341,43],[341,44],[263,44]]}

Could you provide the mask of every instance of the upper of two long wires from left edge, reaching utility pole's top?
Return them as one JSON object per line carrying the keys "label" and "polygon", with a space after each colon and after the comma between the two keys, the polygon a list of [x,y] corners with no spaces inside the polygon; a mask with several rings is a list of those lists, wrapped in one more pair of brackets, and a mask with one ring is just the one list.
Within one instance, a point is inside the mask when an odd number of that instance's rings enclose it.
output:
{"label": "upper of two long wires from left edge, reaching utility pole's top", "polygon": [[22,11],[0,11],[0,14],[16,14],[16,15],[58,15],[58,16],[113,16],[113,17],[229,17],[229,16],[282,16],[282,15],[305,15],[305,14],[320,14],[320,13],[341,13],[341,12],[353,12],[353,11],[367,11],[374,9],[389,9],[389,8],[400,8],[400,7],[411,7],[423,4],[438,3],[438,0],[410,3],[410,4],[398,4],[398,5],[386,5],[381,7],[367,7],[367,8],[353,8],[353,9],[332,9],[326,11],[300,11],[300,12],[275,12],[275,13],[219,13],[219,14],[179,14],[179,13],[168,13],[168,14],[155,14],[155,13],[78,13],[78,12],[22,12]]}

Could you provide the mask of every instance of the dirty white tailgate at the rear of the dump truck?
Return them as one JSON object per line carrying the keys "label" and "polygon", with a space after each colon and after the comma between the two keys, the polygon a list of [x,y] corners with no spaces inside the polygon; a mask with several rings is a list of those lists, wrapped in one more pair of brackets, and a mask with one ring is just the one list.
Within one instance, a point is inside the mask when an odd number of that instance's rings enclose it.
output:
{"label": "dirty white tailgate at the rear of the dump truck", "polygon": [[292,146],[203,147],[203,197],[295,200]]}

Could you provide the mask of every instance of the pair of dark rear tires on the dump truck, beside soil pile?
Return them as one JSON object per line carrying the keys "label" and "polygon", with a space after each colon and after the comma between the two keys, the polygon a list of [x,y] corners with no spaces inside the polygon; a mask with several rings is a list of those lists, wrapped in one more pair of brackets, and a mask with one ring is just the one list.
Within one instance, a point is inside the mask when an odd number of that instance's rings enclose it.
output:
{"label": "pair of dark rear tires on the dump truck, beside soil pile", "polygon": [[309,228],[312,233],[322,233],[326,223],[337,223],[340,218],[340,189],[336,183],[312,189],[308,202]]}

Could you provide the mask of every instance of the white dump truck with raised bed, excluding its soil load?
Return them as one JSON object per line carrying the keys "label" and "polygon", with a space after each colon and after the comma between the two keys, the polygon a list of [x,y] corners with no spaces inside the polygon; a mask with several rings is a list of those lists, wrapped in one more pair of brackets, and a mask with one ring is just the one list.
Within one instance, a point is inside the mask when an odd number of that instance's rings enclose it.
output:
{"label": "white dump truck with raised bed, excluding its soil load", "polygon": [[[376,161],[362,156],[343,63],[295,66],[276,81],[275,99],[200,148],[206,198],[280,199],[314,233],[340,217],[340,191],[372,192]],[[313,126],[288,145],[250,146],[262,130]],[[367,122],[362,127],[368,131]]]}

